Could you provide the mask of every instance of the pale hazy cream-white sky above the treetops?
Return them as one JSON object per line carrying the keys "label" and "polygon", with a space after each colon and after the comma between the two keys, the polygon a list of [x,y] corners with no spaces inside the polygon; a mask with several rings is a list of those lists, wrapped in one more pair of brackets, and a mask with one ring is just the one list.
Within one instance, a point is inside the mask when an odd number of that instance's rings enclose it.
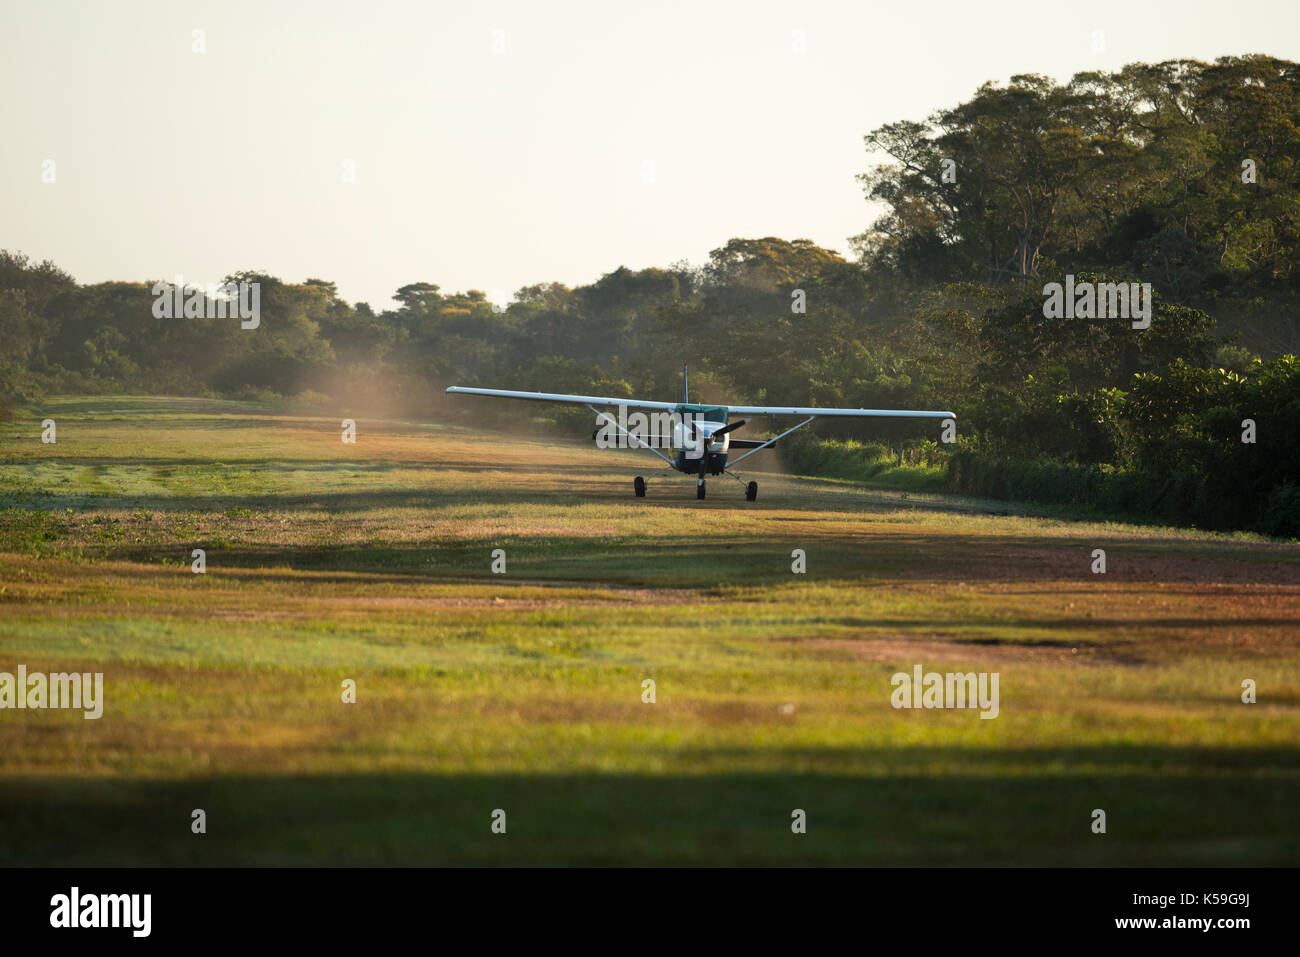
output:
{"label": "pale hazy cream-white sky above the treetops", "polygon": [[1300,0],[0,0],[0,247],[82,282],[264,269],[384,307],[731,237],[848,255],[871,127],[1014,73],[1300,60]]}

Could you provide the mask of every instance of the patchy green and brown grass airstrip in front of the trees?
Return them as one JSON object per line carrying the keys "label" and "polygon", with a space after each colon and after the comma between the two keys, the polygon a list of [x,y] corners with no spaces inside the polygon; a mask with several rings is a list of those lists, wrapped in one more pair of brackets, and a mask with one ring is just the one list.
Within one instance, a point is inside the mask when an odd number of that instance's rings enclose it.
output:
{"label": "patchy green and brown grass airstrip in front of the trees", "polygon": [[[0,671],[107,703],[0,711],[0,863],[1300,861],[1300,547],[781,473],[634,499],[646,459],[196,399],[5,424]],[[915,663],[1001,714],[894,710]]]}

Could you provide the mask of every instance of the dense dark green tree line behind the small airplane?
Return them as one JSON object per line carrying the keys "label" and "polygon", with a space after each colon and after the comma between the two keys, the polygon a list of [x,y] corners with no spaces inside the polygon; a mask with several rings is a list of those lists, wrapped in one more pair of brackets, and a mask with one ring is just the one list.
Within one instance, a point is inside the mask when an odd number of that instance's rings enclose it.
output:
{"label": "dense dark green tree line behind the small airplane", "polygon": [[[928,463],[982,495],[1300,534],[1300,65],[1017,75],[864,146],[885,156],[861,177],[884,215],[852,260],[734,238],[703,264],[538,283],[506,306],[416,282],[376,312],[326,280],[246,272],[225,277],[260,283],[260,324],[240,329],[156,317],[155,281],[81,285],[0,252],[0,399],[364,397],[589,429],[585,411],[451,406],[442,389],[672,398],[690,361],[710,402],[959,417],[950,446],[916,423],[819,421],[786,445],[796,469]],[[1149,325],[1049,319],[1053,282],[1149,283]]]}

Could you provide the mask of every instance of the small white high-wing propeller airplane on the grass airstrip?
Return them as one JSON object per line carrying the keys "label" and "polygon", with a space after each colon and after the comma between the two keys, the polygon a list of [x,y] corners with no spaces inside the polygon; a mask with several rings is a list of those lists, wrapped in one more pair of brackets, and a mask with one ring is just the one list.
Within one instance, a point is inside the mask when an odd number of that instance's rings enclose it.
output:
{"label": "small white high-wing propeller airplane on the grass airstrip", "polygon": [[[619,433],[619,436],[627,437],[628,443],[633,449],[649,449],[666,463],[666,468],[660,468],[656,473],[650,476],[651,478],[663,475],[667,468],[672,468],[677,472],[684,472],[685,475],[696,476],[696,498],[705,497],[705,476],[706,475],[729,475],[737,482],[745,486],[745,501],[753,502],[758,498],[758,482],[746,484],[738,475],[736,475],[728,465],[734,467],[738,463],[748,459],[754,452],[760,449],[771,449],[776,445],[777,439],[785,438],[796,429],[802,429],[814,419],[819,416],[838,416],[838,417],[857,417],[857,419],[874,419],[874,417],[887,417],[887,419],[952,419],[954,423],[957,416],[952,412],[923,412],[923,411],[909,411],[909,410],[888,410],[888,408],[816,408],[806,406],[702,406],[690,402],[690,380],[688,377],[688,368],[684,365],[681,368],[681,402],[649,402],[644,399],[620,399],[611,398],[607,395],[564,395],[558,393],[519,393],[510,391],[507,389],[463,389],[460,386],[450,386],[447,389],[448,394],[455,395],[493,395],[503,399],[533,399],[537,402],[560,402],[571,406],[586,406],[597,415],[597,421],[602,423],[601,426],[592,433],[592,438],[597,439],[599,443],[599,436],[603,430],[612,430]],[[649,433],[654,438],[670,438],[670,447],[676,450],[673,458],[668,458],[660,452],[654,445],[646,441],[645,436],[647,433],[638,433],[637,430],[629,429],[627,424],[615,419],[608,412],[602,412],[601,408],[619,407],[620,411],[634,408],[634,410],[647,410],[651,413],[660,416],[667,416],[671,420],[671,437],[659,433]],[[793,428],[786,429],[781,434],[770,438],[767,441],[758,439],[745,439],[745,438],[732,438],[731,433],[736,429],[746,425],[749,419],[741,419],[740,421],[729,421],[732,415],[797,415],[807,416],[803,421]],[[642,413],[642,417],[645,415]],[[663,419],[660,419],[663,421]],[[728,455],[732,449],[748,449],[744,455],[738,459],[728,462]],[[645,498],[646,494],[646,480],[644,476],[637,476],[632,482],[633,494],[637,498]]]}

